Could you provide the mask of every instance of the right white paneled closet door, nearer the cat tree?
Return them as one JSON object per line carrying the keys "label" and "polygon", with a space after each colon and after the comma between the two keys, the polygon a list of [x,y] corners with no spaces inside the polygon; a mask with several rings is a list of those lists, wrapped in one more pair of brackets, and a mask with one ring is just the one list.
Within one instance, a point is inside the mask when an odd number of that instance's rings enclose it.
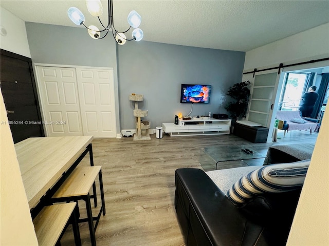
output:
{"label": "right white paneled closet door, nearer the cat tree", "polygon": [[76,70],[83,135],[116,137],[113,70]]}

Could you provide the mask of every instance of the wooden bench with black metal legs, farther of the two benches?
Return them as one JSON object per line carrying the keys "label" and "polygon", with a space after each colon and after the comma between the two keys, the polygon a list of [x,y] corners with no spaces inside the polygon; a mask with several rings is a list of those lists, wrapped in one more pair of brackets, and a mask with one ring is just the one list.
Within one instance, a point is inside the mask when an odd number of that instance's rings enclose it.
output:
{"label": "wooden bench with black metal legs, farther of the two benches", "polygon": [[[96,217],[93,217],[92,206],[90,204],[89,191],[92,188],[97,175],[99,176],[99,186],[101,193],[102,206]],[[94,193],[96,194],[96,193]],[[103,190],[103,179],[102,179],[102,170],[101,166],[94,167],[77,167],[75,170],[67,177],[62,186],[57,190],[57,192],[52,196],[52,202],[70,202],[78,200],[84,200],[86,203],[87,218],[78,219],[78,222],[88,222],[90,240],[92,245],[96,245],[95,231],[100,219],[100,216],[103,212],[105,215],[105,199],[104,199],[104,190]],[[95,207],[97,204],[95,204]],[[96,224],[94,227],[94,220]]]}

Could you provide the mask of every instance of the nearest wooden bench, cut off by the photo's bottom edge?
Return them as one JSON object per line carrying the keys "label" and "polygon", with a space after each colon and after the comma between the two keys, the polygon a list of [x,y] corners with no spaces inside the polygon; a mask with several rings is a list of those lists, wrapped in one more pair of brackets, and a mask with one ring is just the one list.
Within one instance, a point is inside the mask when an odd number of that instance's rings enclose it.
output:
{"label": "nearest wooden bench, cut off by the photo's bottom edge", "polygon": [[44,207],[33,220],[39,245],[56,245],[69,223],[72,224],[76,245],[81,245],[77,203],[61,203]]}

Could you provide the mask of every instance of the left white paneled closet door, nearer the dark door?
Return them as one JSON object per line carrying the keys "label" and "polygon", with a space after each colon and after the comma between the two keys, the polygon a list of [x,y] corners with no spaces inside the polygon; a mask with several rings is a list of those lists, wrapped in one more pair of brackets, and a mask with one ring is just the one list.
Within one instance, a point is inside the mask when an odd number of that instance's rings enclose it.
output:
{"label": "left white paneled closet door, nearer the dark door", "polygon": [[74,68],[36,67],[47,136],[81,136]]}

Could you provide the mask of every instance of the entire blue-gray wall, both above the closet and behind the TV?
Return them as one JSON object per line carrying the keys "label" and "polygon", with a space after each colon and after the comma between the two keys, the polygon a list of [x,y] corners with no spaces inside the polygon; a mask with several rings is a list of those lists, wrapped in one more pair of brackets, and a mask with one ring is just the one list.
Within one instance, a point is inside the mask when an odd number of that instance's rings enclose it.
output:
{"label": "entire blue-gray wall, both above the closet and behind the TV", "polygon": [[[226,113],[226,92],[242,78],[245,53],[153,42],[116,45],[109,34],[89,37],[85,28],[26,23],[33,63],[113,67],[117,133],[134,129],[134,103],[129,94],[143,94],[140,109],[149,110],[151,128],[186,115],[191,104],[180,104],[181,84],[212,85],[210,104],[193,105],[191,115]],[[119,125],[120,121],[120,125]]]}

